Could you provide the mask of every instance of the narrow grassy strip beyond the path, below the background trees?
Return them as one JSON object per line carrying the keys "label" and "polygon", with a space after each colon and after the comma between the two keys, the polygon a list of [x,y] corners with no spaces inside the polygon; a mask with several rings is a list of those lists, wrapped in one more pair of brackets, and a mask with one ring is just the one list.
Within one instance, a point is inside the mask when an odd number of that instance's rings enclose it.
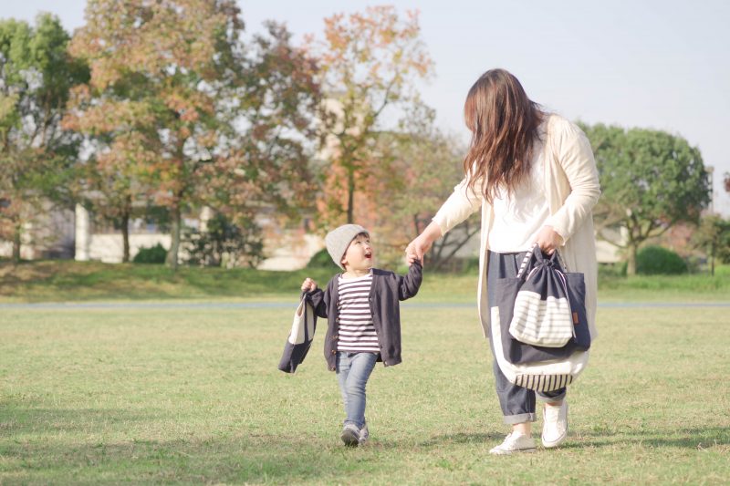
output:
{"label": "narrow grassy strip beyond the path, below the background trees", "polygon": [[[401,269],[401,273],[404,270]],[[331,270],[266,272],[251,269],[180,268],[162,265],[101,264],[98,262],[41,261],[0,263],[0,303],[124,301],[124,300],[235,300],[287,302],[297,300],[305,277],[325,285]],[[433,274],[428,266],[419,297],[429,302],[474,302],[476,274]],[[730,265],[714,276],[602,275],[599,298],[604,302],[728,302]]]}

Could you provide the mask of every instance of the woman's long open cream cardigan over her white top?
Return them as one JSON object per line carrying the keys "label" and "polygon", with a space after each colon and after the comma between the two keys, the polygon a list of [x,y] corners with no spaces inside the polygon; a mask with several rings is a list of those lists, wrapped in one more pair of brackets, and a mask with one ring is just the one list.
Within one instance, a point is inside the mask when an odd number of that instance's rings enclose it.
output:
{"label": "woman's long open cream cardigan over her white top", "polygon": [[[591,210],[600,196],[599,173],[593,151],[583,131],[574,123],[558,115],[547,116],[544,180],[550,217],[545,222],[563,237],[559,250],[568,272],[584,274],[586,282],[586,313],[591,339],[598,337],[596,328],[596,294],[598,291],[598,264],[596,240]],[[490,311],[486,298],[486,250],[489,248],[489,228],[494,211],[481,194],[471,191],[464,178],[441,209],[433,217],[447,233],[470,214],[482,209],[482,231],[479,245],[479,284],[477,305],[485,337],[489,336]],[[480,184],[475,184],[479,187]]]}

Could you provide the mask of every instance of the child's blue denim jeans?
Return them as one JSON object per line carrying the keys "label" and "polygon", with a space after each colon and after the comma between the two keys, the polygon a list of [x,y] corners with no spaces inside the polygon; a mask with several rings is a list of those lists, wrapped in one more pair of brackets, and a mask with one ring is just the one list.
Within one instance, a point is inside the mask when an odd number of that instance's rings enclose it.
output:
{"label": "child's blue denim jeans", "polygon": [[339,391],[347,416],[344,425],[352,424],[358,429],[365,425],[365,385],[377,360],[377,353],[337,354]]}

